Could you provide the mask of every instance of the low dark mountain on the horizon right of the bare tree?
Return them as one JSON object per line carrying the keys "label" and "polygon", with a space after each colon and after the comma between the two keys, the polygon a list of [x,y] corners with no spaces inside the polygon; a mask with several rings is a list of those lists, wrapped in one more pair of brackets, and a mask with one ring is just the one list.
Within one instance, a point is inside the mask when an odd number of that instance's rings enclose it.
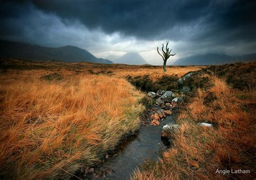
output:
{"label": "low dark mountain on the horizon right of the bare tree", "polygon": [[226,54],[204,54],[194,55],[180,58],[174,61],[171,65],[174,66],[189,66],[189,65],[214,65],[234,62],[245,62],[256,60],[256,54],[245,54],[240,56],[229,56]]}

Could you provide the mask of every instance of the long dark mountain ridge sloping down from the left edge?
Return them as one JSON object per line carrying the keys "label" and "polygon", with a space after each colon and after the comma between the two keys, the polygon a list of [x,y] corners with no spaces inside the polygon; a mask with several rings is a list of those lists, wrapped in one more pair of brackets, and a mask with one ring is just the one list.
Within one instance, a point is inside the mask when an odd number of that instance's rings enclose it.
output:
{"label": "long dark mountain ridge sloping down from the left edge", "polygon": [[0,57],[19,57],[38,61],[113,63],[106,59],[97,58],[85,49],[76,46],[43,47],[6,40],[0,40]]}

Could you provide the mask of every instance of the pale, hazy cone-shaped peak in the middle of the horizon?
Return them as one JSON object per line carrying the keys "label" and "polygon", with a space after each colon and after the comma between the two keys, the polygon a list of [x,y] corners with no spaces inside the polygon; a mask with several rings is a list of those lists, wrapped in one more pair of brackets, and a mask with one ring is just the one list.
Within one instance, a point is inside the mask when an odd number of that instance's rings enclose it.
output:
{"label": "pale, hazy cone-shaped peak in the middle of the horizon", "polygon": [[116,60],[113,60],[114,63],[119,64],[148,64],[142,56],[140,56],[138,53],[126,53],[123,56],[117,58]]}

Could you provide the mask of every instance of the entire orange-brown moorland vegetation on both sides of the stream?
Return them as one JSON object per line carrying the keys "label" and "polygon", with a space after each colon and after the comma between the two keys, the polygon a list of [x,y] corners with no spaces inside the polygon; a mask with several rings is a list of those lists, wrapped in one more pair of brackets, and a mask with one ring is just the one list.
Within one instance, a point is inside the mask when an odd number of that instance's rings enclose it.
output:
{"label": "entire orange-brown moorland vegetation on both sides of the stream", "polygon": [[[149,100],[127,76],[140,89],[151,82],[149,87],[173,90],[178,77],[204,68],[169,67],[162,73],[161,66],[17,59],[0,63],[0,178],[7,179],[69,178],[134,133],[142,104]],[[184,82],[192,89],[187,97],[193,99],[180,107],[181,128],[172,148],[160,162],[143,164],[133,179],[255,178],[254,67],[207,67]],[[214,126],[198,127],[198,122]],[[223,175],[217,169],[251,173]]]}

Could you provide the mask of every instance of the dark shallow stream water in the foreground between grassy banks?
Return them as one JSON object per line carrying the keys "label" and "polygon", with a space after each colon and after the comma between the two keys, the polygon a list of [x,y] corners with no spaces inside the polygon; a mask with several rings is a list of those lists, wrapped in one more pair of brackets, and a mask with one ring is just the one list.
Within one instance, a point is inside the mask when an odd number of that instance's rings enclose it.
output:
{"label": "dark shallow stream water in the foreground between grassy banks", "polygon": [[117,155],[106,159],[103,165],[97,169],[111,168],[115,171],[114,176],[107,179],[130,179],[130,175],[146,159],[157,159],[160,150],[167,145],[161,139],[161,129],[166,124],[172,124],[174,116],[167,116],[160,122],[160,126],[141,126],[138,134],[130,136],[118,145]]}

